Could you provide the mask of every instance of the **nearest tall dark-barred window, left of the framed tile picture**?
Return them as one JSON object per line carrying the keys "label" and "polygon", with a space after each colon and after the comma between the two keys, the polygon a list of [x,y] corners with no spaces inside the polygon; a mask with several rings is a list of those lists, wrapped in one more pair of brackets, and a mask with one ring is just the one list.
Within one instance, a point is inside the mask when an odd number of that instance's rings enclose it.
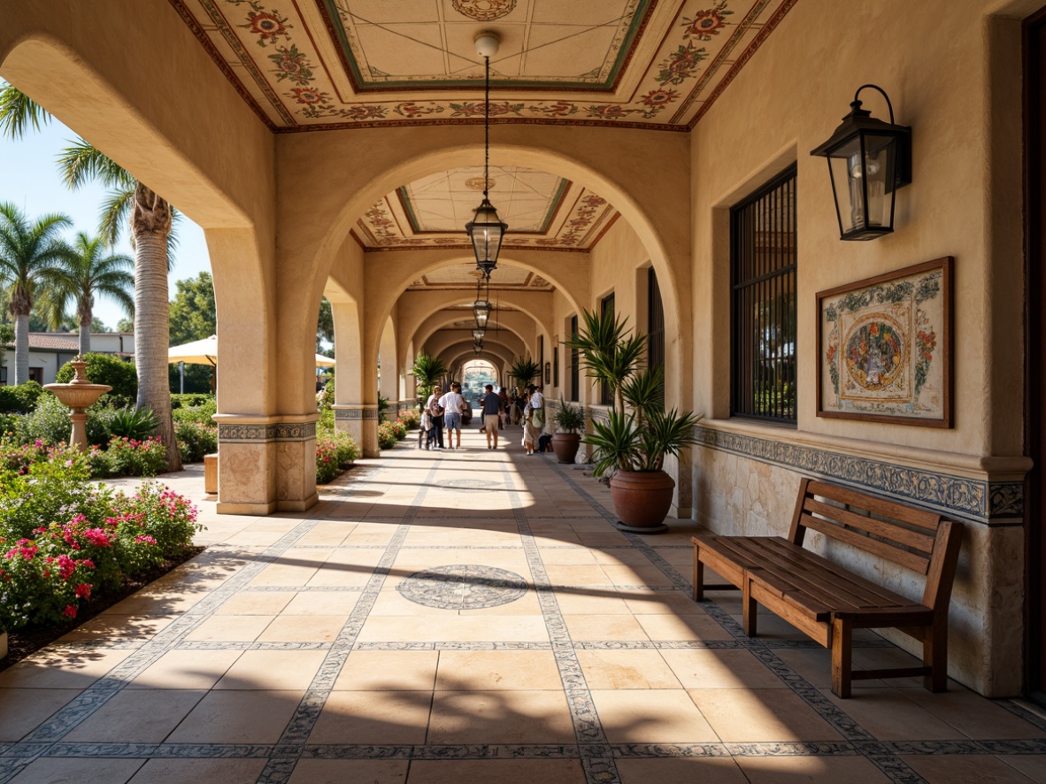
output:
{"label": "nearest tall dark-barred window, left of the framed tile picture", "polygon": [[730,210],[733,416],[795,422],[795,171]]}

